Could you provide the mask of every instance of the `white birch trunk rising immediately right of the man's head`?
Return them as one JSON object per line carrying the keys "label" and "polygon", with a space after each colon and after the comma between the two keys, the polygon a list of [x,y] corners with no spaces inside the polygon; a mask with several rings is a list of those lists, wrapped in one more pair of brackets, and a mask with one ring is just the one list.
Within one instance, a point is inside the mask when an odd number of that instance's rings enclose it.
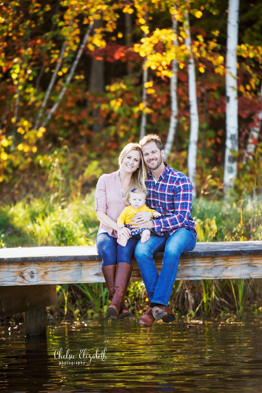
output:
{"label": "white birch trunk rising immediately right of the man's head", "polygon": [[[172,17],[172,29],[174,33],[177,34],[178,22]],[[173,42],[174,46],[178,46],[178,39]],[[172,145],[174,143],[174,138],[176,134],[176,126],[178,123],[178,97],[177,97],[177,85],[178,85],[178,62],[177,59],[172,60],[172,77],[170,79],[170,97],[171,97],[171,116],[170,116],[170,124],[169,131],[167,135],[167,141],[165,143],[165,156],[164,159],[167,159],[169,155]]]}

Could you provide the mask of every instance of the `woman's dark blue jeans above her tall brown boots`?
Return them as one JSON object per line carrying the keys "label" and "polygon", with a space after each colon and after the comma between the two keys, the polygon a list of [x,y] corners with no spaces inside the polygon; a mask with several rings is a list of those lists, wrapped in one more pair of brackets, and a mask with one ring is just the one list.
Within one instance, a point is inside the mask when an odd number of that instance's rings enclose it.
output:
{"label": "woman's dark blue jeans above her tall brown boots", "polygon": [[131,265],[131,259],[134,256],[134,250],[139,239],[141,239],[140,235],[135,235],[128,239],[126,246],[123,247],[117,243],[115,237],[108,235],[107,232],[99,233],[95,239],[95,244],[97,253],[103,259],[102,266],[115,265],[119,262],[126,262]]}

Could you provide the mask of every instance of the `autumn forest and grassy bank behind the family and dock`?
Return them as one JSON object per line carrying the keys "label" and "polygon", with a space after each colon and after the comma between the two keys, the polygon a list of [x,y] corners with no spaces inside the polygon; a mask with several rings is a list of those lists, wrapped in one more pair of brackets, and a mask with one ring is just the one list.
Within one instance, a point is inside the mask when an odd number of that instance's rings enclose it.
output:
{"label": "autumn forest and grassy bank behind the family and dock", "polygon": [[[237,4],[0,3],[0,247],[94,244],[97,179],[146,133],[158,134],[170,166],[192,179],[198,241],[262,240],[262,3],[239,4],[234,77],[228,20]],[[65,316],[106,315],[104,285],[58,290]],[[141,313],[143,284],[128,291]],[[171,305],[188,319],[236,318],[246,303],[259,317],[261,295],[260,279],[181,281]]]}

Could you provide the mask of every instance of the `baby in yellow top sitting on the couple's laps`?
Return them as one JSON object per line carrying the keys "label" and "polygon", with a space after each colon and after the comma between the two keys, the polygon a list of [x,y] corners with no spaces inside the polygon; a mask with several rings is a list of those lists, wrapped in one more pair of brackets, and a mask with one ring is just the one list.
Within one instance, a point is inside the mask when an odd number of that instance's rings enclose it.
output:
{"label": "baby in yellow top sitting on the couple's laps", "polygon": [[[130,194],[129,194],[129,203],[131,206],[127,206],[121,213],[121,215],[117,219],[117,225],[119,229],[128,228],[131,231],[131,236],[132,235],[137,235],[140,233],[141,236],[141,243],[145,243],[149,238],[150,238],[150,230],[147,228],[132,228],[130,226],[130,220],[134,217],[136,213],[139,211],[150,211],[152,216],[154,218],[158,218],[161,216],[161,214],[156,211],[149,209],[147,206],[145,206],[145,199],[147,195],[145,191],[139,188],[134,188]],[[121,237],[117,238],[117,243],[120,244],[121,246],[125,247],[128,239],[122,239]]]}

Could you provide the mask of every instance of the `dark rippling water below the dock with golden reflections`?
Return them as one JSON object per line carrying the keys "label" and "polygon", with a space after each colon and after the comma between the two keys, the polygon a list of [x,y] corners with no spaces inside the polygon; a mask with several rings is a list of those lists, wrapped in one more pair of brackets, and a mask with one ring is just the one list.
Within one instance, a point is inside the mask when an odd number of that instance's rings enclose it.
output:
{"label": "dark rippling water below the dock with golden reflections", "polygon": [[261,323],[72,323],[47,340],[2,328],[0,391],[262,392],[261,336]]}

